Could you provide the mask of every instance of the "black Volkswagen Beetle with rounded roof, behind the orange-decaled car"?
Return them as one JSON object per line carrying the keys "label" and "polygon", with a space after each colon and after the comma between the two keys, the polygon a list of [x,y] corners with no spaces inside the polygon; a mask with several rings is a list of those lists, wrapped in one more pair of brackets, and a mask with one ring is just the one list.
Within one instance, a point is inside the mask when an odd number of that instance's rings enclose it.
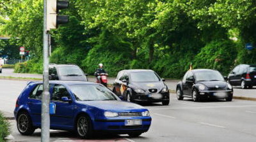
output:
{"label": "black Volkswagen Beetle with rounded roof, behind the orange-decaled car", "polygon": [[202,99],[225,99],[232,101],[233,88],[225,82],[224,77],[212,69],[194,69],[187,71],[183,80],[177,84],[177,98],[193,98],[193,101]]}

